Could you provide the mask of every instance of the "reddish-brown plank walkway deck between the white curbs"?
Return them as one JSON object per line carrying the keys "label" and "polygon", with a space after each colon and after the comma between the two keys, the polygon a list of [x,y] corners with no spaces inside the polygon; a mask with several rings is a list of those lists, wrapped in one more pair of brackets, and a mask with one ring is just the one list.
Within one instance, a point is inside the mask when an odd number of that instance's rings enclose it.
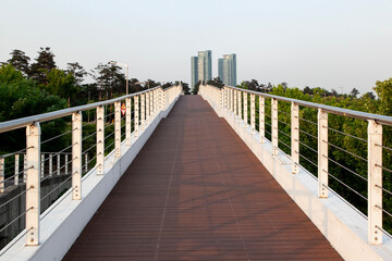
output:
{"label": "reddish-brown plank walkway deck between the white curbs", "polygon": [[199,96],[162,120],[64,260],[341,260]]}

